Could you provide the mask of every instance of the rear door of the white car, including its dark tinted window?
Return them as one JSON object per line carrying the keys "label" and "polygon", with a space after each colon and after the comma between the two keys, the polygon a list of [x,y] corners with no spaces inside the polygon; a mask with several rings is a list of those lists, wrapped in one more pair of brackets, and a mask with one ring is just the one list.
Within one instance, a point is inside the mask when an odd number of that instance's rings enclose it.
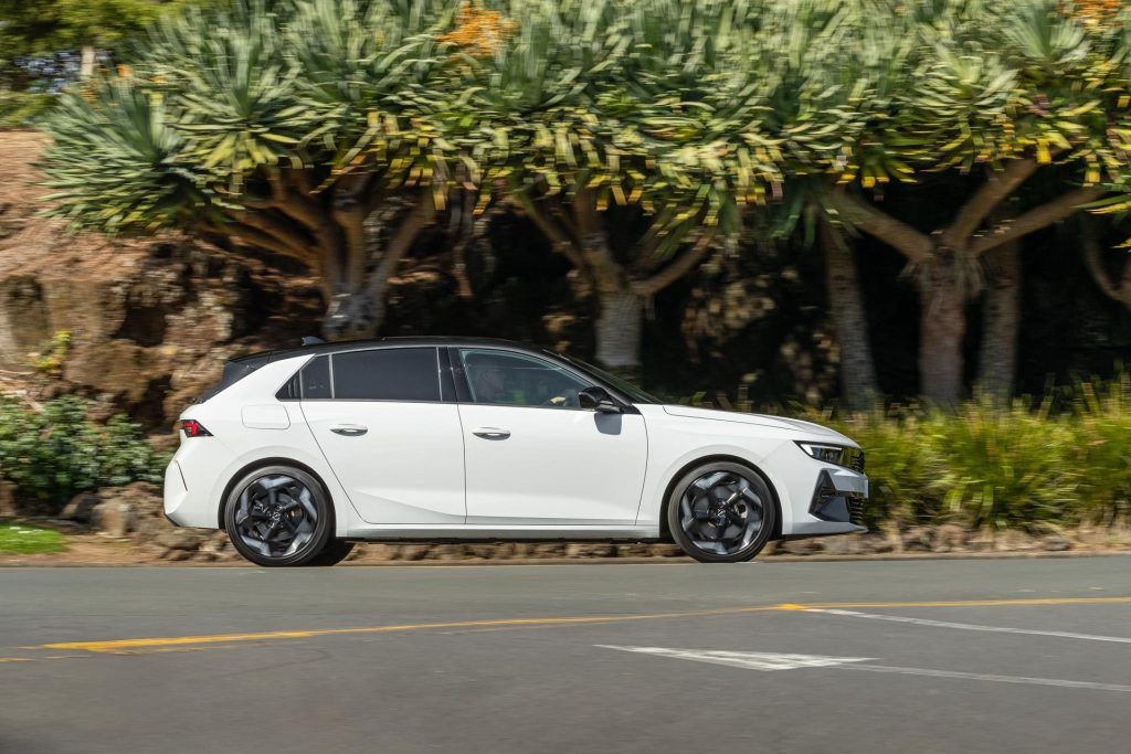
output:
{"label": "rear door of the white car, including its dark tinted window", "polygon": [[437,348],[319,356],[302,383],[307,424],[363,520],[464,523],[459,411],[444,402]]}

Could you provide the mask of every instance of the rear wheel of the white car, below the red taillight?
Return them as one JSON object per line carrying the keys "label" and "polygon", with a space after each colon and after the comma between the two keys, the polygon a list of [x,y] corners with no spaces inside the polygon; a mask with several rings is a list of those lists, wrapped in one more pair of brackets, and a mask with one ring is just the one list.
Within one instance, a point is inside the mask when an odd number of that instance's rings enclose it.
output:
{"label": "rear wheel of the white car, below the red taillight", "polygon": [[236,552],[268,567],[313,564],[336,541],[329,495],[291,466],[265,466],[241,478],[224,504],[224,526]]}

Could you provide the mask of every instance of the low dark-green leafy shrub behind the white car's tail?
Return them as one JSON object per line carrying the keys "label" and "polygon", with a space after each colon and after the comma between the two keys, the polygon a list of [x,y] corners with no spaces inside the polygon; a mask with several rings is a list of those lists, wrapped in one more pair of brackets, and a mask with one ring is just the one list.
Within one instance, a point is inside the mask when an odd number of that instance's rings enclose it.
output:
{"label": "low dark-green leafy shrub behind the white car's tail", "polygon": [[63,505],[87,489],[135,480],[159,483],[167,458],[156,452],[127,416],[102,425],[89,402],[57,398],[36,410],[0,398],[0,477],[19,500]]}

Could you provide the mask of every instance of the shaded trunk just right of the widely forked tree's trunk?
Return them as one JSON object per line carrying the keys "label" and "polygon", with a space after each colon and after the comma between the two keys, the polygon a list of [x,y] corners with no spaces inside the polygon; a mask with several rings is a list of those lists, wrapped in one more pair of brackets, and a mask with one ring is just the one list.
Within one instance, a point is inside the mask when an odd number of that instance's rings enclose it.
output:
{"label": "shaded trunk just right of the widely forked tree's trunk", "polygon": [[1020,320],[1020,243],[1011,241],[986,254],[985,324],[978,354],[978,387],[993,400],[1007,401],[1017,369]]}

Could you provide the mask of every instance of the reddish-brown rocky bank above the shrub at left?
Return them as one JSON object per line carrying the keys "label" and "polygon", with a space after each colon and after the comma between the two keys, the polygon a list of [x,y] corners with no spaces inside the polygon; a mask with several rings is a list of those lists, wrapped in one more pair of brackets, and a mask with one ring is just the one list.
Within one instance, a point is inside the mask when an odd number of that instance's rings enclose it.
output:
{"label": "reddish-brown rocky bank above the shrub at left", "polygon": [[[215,382],[223,361],[309,332],[313,281],[179,235],[110,239],[37,216],[44,137],[0,135],[0,370],[35,397],[77,392],[147,430]],[[68,333],[55,362],[29,356]],[[42,378],[52,378],[45,380]]]}

